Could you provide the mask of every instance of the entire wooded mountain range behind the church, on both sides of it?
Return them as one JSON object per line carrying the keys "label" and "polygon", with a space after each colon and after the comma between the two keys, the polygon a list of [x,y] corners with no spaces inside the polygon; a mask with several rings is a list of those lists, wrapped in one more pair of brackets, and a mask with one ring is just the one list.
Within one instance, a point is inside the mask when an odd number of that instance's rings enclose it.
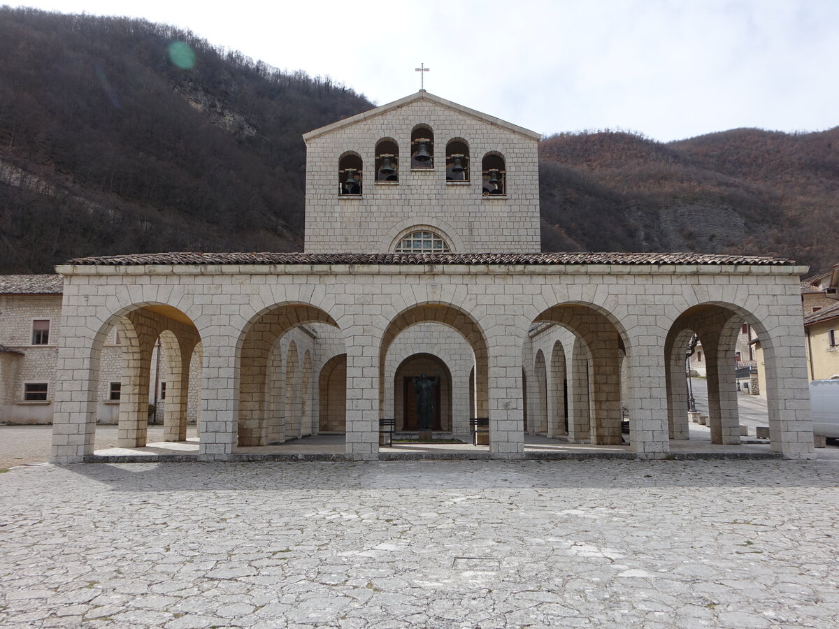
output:
{"label": "entire wooded mountain range behind the church, on both sides of it", "polygon": [[[0,8],[0,58],[2,273],[92,255],[300,251],[301,134],[373,107],[129,18]],[[674,143],[563,133],[539,151],[544,251],[778,255],[814,272],[839,261],[839,127]]]}

